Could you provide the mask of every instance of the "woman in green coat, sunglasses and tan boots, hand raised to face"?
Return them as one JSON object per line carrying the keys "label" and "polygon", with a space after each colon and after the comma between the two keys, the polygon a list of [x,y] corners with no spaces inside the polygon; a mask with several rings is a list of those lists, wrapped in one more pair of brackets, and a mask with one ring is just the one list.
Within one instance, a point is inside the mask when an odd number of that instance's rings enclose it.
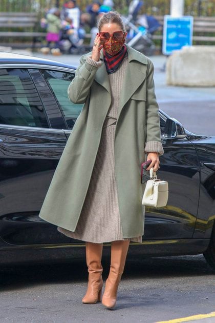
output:
{"label": "woman in green coat, sunglasses and tan boots, hand raised to face", "polygon": [[40,217],[67,236],[86,241],[89,271],[85,304],[101,300],[102,243],[111,242],[111,268],[102,304],[112,309],[130,240],[141,242],[144,207],[141,163],[159,168],[163,154],[153,65],[125,45],[117,12],[98,24],[92,53],[80,59],[68,89],[84,103],[58,163]]}

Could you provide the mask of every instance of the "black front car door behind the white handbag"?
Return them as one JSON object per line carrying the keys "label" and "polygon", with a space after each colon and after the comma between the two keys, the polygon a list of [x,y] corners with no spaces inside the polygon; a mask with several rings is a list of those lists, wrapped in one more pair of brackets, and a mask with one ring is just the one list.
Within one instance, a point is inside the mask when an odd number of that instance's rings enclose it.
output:
{"label": "black front car door behind the white handbag", "polygon": [[166,116],[160,114],[164,154],[158,178],[168,181],[166,207],[146,207],[143,239],[191,238],[195,229],[200,189],[196,149],[187,138],[165,138]]}

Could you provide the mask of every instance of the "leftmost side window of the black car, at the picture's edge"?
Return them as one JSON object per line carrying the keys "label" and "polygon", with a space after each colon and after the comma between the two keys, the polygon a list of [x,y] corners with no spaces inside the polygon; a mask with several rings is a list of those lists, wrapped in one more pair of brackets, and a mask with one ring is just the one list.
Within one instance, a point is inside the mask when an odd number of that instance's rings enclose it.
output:
{"label": "leftmost side window of the black car, at the picture's edge", "polygon": [[49,127],[44,107],[26,69],[0,69],[0,123]]}

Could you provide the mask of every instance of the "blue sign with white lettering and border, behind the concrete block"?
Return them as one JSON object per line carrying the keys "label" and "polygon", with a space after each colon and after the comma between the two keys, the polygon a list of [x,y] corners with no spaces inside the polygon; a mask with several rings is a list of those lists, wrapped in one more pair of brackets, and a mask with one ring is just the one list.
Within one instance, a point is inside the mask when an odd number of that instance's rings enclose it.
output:
{"label": "blue sign with white lettering and border, behind the concrete block", "polygon": [[193,17],[164,16],[163,54],[170,55],[174,50],[192,45]]}

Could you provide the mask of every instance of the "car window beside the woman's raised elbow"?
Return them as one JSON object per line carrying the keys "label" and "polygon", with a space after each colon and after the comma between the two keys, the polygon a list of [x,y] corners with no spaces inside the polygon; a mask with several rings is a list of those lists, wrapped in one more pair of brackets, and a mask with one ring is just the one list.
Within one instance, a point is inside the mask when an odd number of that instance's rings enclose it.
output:
{"label": "car window beside the woman's raised elbow", "polygon": [[68,127],[72,129],[83,107],[82,104],[72,103],[67,95],[67,89],[75,76],[74,73],[52,70],[40,70],[40,72],[50,85]]}

